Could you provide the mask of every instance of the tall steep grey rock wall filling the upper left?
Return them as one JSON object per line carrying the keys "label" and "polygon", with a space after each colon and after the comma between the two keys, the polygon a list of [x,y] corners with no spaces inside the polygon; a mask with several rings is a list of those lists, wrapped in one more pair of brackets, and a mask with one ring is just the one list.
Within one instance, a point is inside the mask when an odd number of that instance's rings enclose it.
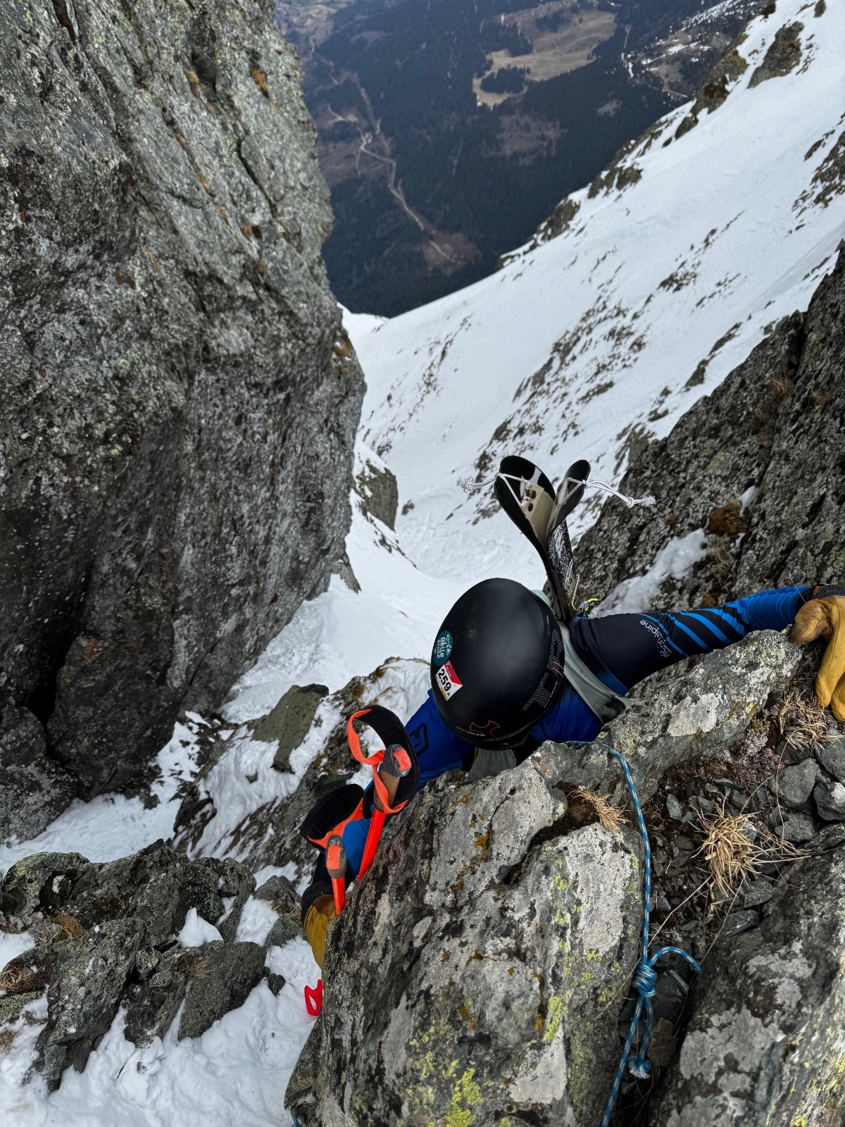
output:
{"label": "tall steep grey rock wall filling the upper left", "polygon": [[68,773],[11,831],[216,707],[343,551],[363,381],[272,7],[0,14],[0,703]]}

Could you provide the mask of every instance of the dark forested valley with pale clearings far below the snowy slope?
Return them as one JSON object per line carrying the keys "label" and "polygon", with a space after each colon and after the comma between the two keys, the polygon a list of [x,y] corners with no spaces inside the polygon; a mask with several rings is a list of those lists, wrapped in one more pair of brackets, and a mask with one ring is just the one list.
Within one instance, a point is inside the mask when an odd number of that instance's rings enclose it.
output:
{"label": "dark forested valley with pale clearings far below the snowy slope", "polygon": [[691,97],[762,2],[279,0],[331,187],[338,298],[393,316],[489,274]]}

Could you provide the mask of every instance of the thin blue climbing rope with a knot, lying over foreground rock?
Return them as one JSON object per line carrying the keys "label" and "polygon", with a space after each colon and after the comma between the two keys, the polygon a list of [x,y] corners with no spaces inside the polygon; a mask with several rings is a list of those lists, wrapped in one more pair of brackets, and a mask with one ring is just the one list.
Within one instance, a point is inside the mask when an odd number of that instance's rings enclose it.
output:
{"label": "thin blue climbing rope with a knot, lying over foreground rock", "polygon": [[[585,747],[584,743],[568,742],[570,747]],[[610,1127],[611,1117],[613,1116],[613,1110],[616,1107],[616,1100],[619,1099],[619,1090],[622,1085],[622,1080],[625,1075],[625,1067],[628,1066],[628,1058],[631,1055],[631,1048],[634,1042],[634,1037],[637,1036],[637,1030],[640,1024],[640,1019],[642,1018],[643,1008],[646,1010],[646,1028],[643,1030],[640,1042],[637,1047],[637,1054],[631,1061],[631,1075],[635,1076],[638,1080],[647,1080],[651,1073],[651,1063],[648,1058],[649,1046],[651,1045],[651,1030],[655,1023],[655,1011],[651,1005],[651,999],[657,993],[657,971],[655,970],[655,964],[658,959],[661,959],[664,955],[679,955],[682,959],[686,959],[690,966],[696,973],[701,970],[701,967],[686,951],[683,951],[679,947],[661,947],[655,953],[649,957],[649,921],[651,915],[651,846],[649,844],[649,834],[646,828],[646,819],[642,817],[642,807],[640,806],[640,800],[637,797],[637,788],[634,787],[634,781],[631,775],[631,769],[628,765],[628,760],[620,752],[614,751],[610,744],[604,745],[607,752],[616,760],[625,775],[625,782],[628,789],[631,792],[631,801],[633,802],[634,814],[637,815],[637,825],[642,836],[643,845],[643,863],[646,867],[646,873],[643,877],[643,912],[642,912],[642,946],[640,951],[640,961],[637,964],[633,973],[633,979],[631,985],[637,991],[637,1008],[634,1009],[633,1017],[631,1018],[631,1028],[628,1030],[628,1039],[625,1040],[625,1047],[622,1049],[622,1059],[619,1063],[619,1068],[616,1068],[616,1075],[613,1080],[613,1088],[611,1089],[611,1094],[607,1098],[607,1103],[604,1109],[604,1115],[602,1116],[602,1127]]]}

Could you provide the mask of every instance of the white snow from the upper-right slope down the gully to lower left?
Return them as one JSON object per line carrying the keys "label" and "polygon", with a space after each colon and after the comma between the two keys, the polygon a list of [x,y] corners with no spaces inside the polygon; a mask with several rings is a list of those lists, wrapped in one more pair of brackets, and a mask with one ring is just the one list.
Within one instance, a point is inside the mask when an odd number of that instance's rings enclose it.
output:
{"label": "white snow from the upper-right slope down the gully to lower left", "polygon": [[[359,458],[377,455],[395,474],[397,530],[353,496],[347,554],[361,591],[336,576],[300,609],[234,687],[230,722],[265,715],[292,684],[320,682],[335,691],[389,656],[427,660],[446,610],[481,578],[541,583],[532,550],[506,517],[488,515],[491,490],[468,495],[457,479],[489,479],[500,456],[524,452],[555,479],[588,458],[596,477],[616,481],[632,440],[666,434],[768,325],[806,309],[845,233],[843,174],[837,183],[835,166],[837,151],[843,162],[836,145],[845,128],[845,5],[828,0],[821,16],[813,12],[813,3],[777,0],[775,14],[755,20],[739,44],[748,66],[726,101],[677,140],[690,107],[659,122],[614,172],[614,185],[625,171],[628,186],[592,198],[586,188],[576,193],[575,219],[557,238],[394,320],[347,318],[368,389]],[[775,33],[794,20],[803,24],[799,65],[749,88]],[[822,195],[827,172],[834,190]],[[582,505],[573,531],[596,511],[596,500]],[[657,587],[695,549],[676,544],[640,591]],[[421,700],[421,669],[392,686],[394,707],[410,711]],[[203,850],[225,851],[244,804],[295,786],[317,754],[313,736],[294,754],[293,775],[272,770],[272,745],[233,737],[216,769],[217,816]],[[36,842],[0,849],[0,868],[38,849],[105,860],[167,836],[194,739],[193,730],[177,728],[162,751],[154,809],[123,798],[74,804]],[[258,777],[255,786],[244,784],[248,774]],[[258,902],[247,905],[242,926],[255,935],[241,938],[260,941],[260,912]],[[20,942],[0,934],[0,966]],[[37,1035],[37,1027],[21,1026],[0,1054],[3,1121],[290,1122],[282,1099],[310,1026],[302,985],[318,971],[300,940],[273,948],[269,960],[288,979],[278,999],[261,984],[197,1041],[177,1044],[168,1035],[143,1051],[125,1040],[118,1019],[86,1072],[66,1074],[51,1095],[37,1079],[19,1086]]]}

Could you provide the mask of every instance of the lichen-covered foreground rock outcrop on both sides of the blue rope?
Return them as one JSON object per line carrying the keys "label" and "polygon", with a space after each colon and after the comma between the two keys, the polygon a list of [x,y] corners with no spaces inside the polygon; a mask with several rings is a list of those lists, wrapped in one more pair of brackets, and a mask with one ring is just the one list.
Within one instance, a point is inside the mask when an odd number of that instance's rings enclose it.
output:
{"label": "lichen-covered foreground rock outcrop on both sides of the blue rope", "polygon": [[[322,1015],[286,1093],[303,1127],[599,1121],[642,925],[640,838],[607,744],[628,758],[651,837],[651,950],[675,944],[704,967],[685,1032],[685,968],[658,965],[649,1059],[667,1071],[625,1080],[619,1121],[643,1121],[653,1099],[656,1127],[801,1121],[772,1109],[838,1122],[845,832],[825,828],[819,788],[845,788],[783,703],[817,660],[753,635],[592,745],[544,744],[492,779],[424,790],[329,929]],[[789,747],[797,762],[781,771]],[[830,761],[836,743],[817,747]],[[628,807],[628,825],[603,828],[603,801]],[[719,826],[740,831],[733,849],[757,842],[727,897],[702,857]]]}

